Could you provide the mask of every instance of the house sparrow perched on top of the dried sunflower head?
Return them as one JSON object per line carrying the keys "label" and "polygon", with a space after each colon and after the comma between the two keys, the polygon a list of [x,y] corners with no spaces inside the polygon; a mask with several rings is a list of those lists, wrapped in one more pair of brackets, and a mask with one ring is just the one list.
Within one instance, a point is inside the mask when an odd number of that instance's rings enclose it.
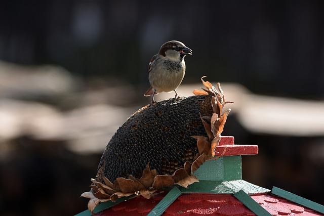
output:
{"label": "house sparrow perched on top of the dried sunflower head", "polygon": [[154,95],[160,92],[176,93],[186,70],[184,57],[191,55],[192,50],[187,48],[182,42],[171,40],[163,44],[148,64],[148,80],[151,88],[144,94],[145,97],[151,96],[154,103]]}

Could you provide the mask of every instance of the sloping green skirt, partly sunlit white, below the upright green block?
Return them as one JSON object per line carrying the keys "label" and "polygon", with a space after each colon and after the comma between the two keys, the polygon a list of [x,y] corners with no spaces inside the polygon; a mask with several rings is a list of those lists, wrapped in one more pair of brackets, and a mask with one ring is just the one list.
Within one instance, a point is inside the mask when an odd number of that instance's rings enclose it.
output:
{"label": "sloping green skirt, partly sunlit white, below the upright green block", "polygon": [[233,181],[199,181],[188,188],[180,188],[182,193],[234,194],[244,190],[248,194],[268,193],[270,190],[251,184],[244,180]]}

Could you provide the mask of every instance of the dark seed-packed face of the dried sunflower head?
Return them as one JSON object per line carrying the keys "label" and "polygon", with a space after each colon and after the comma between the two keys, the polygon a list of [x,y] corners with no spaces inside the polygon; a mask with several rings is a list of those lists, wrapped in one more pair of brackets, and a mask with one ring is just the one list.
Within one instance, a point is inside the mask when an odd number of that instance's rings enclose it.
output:
{"label": "dark seed-packed face of the dried sunflower head", "polygon": [[147,163],[158,174],[173,174],[185,161],[197,154],[196,140],[207,136],[200,119],[212,115],[211,96],[169,99],[135,112],[108,143],[98,166],[97,181],[102,177],[142,176]]}

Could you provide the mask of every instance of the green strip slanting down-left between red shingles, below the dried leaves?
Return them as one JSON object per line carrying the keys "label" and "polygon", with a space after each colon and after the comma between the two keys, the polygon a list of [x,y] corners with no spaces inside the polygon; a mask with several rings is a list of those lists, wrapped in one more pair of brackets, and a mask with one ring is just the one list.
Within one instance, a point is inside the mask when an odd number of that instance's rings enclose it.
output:
{"label": "green strip slanting down-left between red shingles, below the dried leaves", "polygon": [[167,208],[181,195],[178,187],[174,187],[157,205],[147,214],[147,216],[161,215]]}

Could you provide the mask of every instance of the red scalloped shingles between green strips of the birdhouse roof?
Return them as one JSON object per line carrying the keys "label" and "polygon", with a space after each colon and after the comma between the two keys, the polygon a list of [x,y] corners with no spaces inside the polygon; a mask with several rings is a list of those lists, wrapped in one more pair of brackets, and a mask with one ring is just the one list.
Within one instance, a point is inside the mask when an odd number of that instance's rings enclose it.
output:
{"label": "red scalloped shingles between green strips of the birdhouse roof", "polygon": [[[104,210],[98,216],[147,215],[167,194],[161,193],[151,199],[142,196],[121,202]],[[263,194],[252,195],[272,215],[322,215],[280,197]],[[255,215],[239,200],[227,194],[186,194],[178,197],[163,215]]]}

